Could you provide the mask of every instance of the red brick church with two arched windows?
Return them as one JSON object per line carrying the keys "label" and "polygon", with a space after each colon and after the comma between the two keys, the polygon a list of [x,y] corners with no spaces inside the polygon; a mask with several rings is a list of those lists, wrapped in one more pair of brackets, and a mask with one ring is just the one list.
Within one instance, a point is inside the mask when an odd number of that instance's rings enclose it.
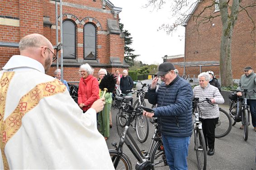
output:
{"label": "red brick church with two arched windows", "polygon": [[[0,69],[12,55],[19,54],[19,40],[25,35],[42,34],[57,46],[55,3],[54,0],[1,1]],[[124,61],[124,35],[118,22],[121,11],[109,0],[62,0],[64,79],[79,81],[79,66],[85,63],[95,69],[96,77],[100,68],[109,72],[128,68]],[[60,29],[58,37],[60,43]],[[47,74],[53,76],[56,65],[54,62]]]}

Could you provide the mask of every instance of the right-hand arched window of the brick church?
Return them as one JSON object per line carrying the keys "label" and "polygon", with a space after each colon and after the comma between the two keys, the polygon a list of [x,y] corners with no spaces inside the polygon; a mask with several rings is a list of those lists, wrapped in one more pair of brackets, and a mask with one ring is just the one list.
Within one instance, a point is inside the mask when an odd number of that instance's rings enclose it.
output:
{"label": "right-hand arched window of the brick church", "polygon": [[84,27],[84,59],[96,60],[96,28],[91,23]]}

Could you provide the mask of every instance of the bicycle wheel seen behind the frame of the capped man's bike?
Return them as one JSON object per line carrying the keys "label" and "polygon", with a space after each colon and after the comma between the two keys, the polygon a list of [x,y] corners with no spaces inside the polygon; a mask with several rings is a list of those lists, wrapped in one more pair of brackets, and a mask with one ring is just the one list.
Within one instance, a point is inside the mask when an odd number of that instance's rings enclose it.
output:
{"label": "bicycle wheel seen behind the frame of the capped man's bike", "polygon": [[149,132],[148,119],[143,115],[137,115],[135,120],[135,127],[138,140],[141,143],[145,142]]}

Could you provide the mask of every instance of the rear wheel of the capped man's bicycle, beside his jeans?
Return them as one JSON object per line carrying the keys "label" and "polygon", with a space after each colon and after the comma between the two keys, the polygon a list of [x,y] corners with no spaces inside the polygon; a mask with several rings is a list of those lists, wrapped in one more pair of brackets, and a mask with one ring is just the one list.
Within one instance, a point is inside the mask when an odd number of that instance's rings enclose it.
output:
{"label": "rear wheel of the capped man's bicycle, beside his jeans", "polygon": [[150,162],[152,163],[152,170],[169,170],[162,141],[156,142],[153,147]]}

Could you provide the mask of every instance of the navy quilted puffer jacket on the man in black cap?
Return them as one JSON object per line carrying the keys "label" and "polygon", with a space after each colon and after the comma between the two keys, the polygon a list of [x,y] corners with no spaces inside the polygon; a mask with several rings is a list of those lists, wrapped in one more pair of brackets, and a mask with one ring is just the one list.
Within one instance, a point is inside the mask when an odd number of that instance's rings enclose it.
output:
{"label": "navy quilted puffer jacket on the man in black cap", "polygon": [[161,133],[175,137],[191,136],[192,96],[191,85],[179,76],[168,86],[161,83],[157,92],[156,89],[148,89],[149,103],[157,103],[154,114]]}

